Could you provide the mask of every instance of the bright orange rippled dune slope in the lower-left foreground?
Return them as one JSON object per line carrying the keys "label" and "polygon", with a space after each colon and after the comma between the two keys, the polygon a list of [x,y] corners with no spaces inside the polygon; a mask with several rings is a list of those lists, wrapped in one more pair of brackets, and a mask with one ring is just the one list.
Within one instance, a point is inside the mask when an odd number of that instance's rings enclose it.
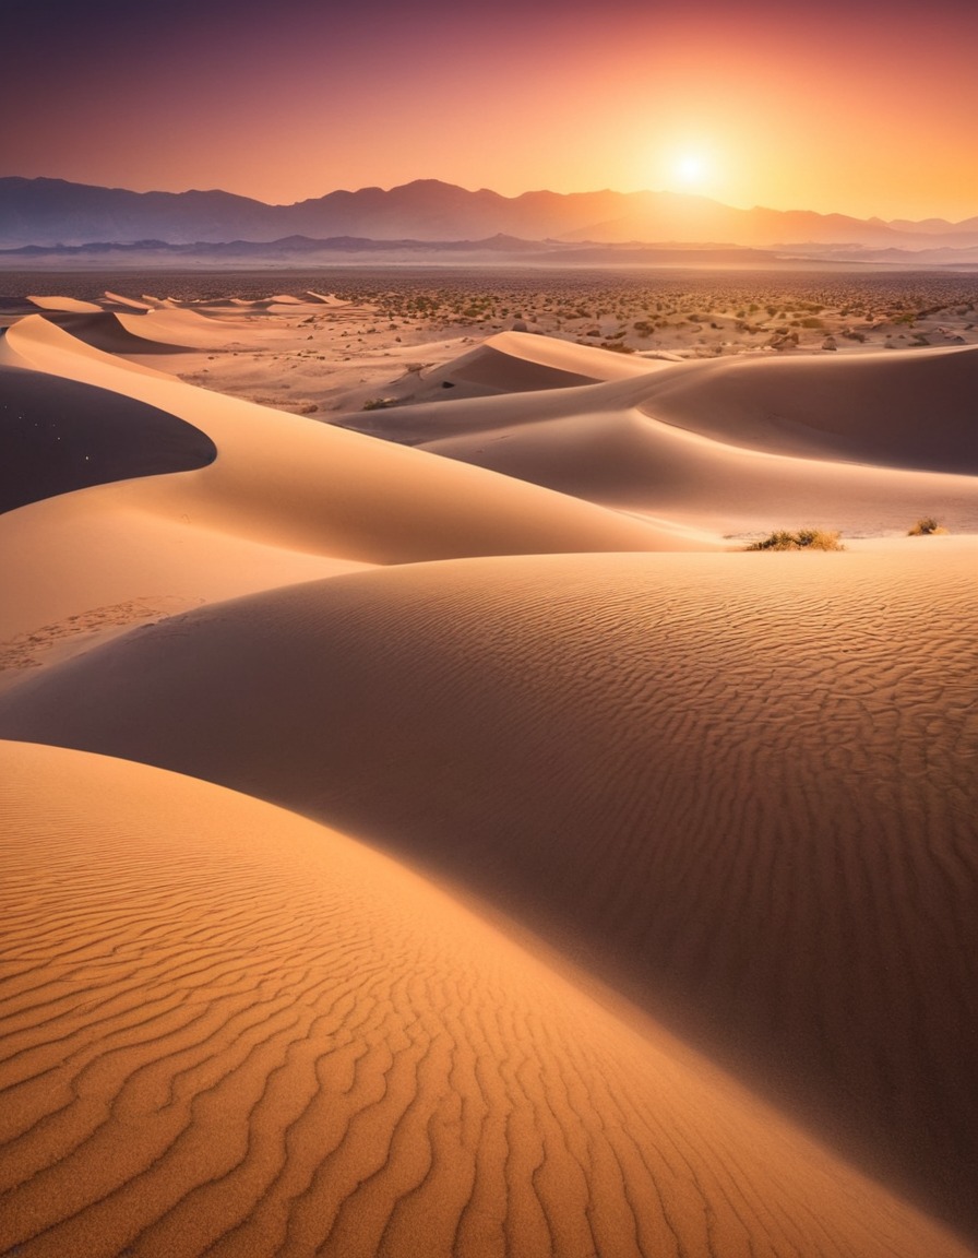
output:
{"label": "bright orange rippled dune slope in the lower-left foreground", "polygon": [[343,835],[0,754],[5,1248],[968,1253]]}

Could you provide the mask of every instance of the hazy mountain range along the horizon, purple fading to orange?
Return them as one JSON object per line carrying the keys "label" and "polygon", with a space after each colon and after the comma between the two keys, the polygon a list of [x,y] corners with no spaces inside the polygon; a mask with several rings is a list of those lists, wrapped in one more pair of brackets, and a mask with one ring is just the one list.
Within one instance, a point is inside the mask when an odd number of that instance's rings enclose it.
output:
{"label": "hazy mountain range along the horizon, purple fading to orange", "polygon": [[522,240],[600,244],[714,242],[727,247],[818,252],[854,249],[968,249],[978,245],[978,218],[952,224],[928,219],[855,219],[807,210],[734,209],[675,192],[470,192],[439,180],[385,191],[328,192],[295,205],[265,205],[230,192],[131,192],[58,179],[0,179],[0,248],[133,244],[223,244],[288,237],[376,242]]}

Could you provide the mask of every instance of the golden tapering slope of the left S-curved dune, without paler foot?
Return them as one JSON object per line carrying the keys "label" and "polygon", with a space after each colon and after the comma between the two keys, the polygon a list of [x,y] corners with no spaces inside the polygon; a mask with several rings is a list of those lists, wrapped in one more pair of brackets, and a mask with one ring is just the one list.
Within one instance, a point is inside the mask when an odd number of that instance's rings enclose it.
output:
{"label": "golden tapering slope of the left S-curved dune, without paler foot", "polygon": [[151,401],[205,431],[217,460],[179,478],[143,482],[138,501],[145,509],[186,515],[207,528],[382,564],[700,545],[479,468],[131,371],[40,317],[11,327],[0,352],[5,361]]}

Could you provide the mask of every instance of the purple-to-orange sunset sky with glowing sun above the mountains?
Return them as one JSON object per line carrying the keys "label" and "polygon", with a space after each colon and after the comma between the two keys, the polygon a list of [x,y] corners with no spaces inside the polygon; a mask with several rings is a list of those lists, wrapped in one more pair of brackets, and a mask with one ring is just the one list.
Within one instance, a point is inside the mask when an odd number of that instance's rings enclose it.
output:
{"label": "purple-to-orange sunset sky with glowing sun above the mountains", "polygon": [[974,0],[3,0],[0,174],[978,214]]}

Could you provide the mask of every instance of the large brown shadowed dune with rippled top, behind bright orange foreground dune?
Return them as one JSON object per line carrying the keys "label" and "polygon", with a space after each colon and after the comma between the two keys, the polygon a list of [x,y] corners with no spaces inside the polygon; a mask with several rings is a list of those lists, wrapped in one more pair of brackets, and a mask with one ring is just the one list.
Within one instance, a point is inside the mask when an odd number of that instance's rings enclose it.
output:
{"label": "large brown shadowed dune with rippled top, behind bright orange foreground dune", "polygon": [[973,1225],[973,559],[377,569],[53,668],[0,735],[449,871]]}

